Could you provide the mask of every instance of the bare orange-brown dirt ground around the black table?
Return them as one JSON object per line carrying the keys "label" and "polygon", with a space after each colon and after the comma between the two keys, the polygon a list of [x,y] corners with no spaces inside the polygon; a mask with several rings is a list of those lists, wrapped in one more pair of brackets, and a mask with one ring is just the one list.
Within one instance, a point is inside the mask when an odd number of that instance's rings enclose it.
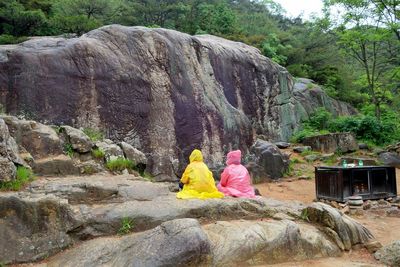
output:
{"label": "bare orange-brown dirt ground around the black table", "polygon": [[[312,166],[298,166],[306,173],[313,173]],[[309,175],[310,177],[312,175]],[[397,192],[400,190],[400,169],[396,169]],[[260,190],[261,195],[268,196],[279,200],[298,200],[304,203],[311,203],[315,198],[315,180],[314,177],[308,180],[298,180],[295,177],[284,178],[278,182],[262,183],[255,185]],[[365,214],[363,216],[353,217],[361,224],[366,226],[375,238],[387,245],[395,240],[400,240],[400,218],[382,217],[380,215]],[[267,266],[267,265],[263,265]],[[289,262],[276,264],[279,267],[367,267],[367,266],[384,266],[380,265],[374,257],[365,249],[358,251],[350,251],[344,253],[338,258],[324,258],[317,260],[308,260],[303,262]],[[260,266],[261,267],[261,266]]]}

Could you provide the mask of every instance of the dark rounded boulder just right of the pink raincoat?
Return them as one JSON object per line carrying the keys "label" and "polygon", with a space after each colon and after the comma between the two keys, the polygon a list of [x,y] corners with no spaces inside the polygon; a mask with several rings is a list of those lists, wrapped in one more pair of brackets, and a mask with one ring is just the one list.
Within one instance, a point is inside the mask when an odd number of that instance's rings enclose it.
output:
{"label": "dark rounded boulder just right of the pink raincoat", "polygon": [[289,167],[289,157],[267,141],[257,140],[251,153],[246,167],[255,182],[281,178]]}

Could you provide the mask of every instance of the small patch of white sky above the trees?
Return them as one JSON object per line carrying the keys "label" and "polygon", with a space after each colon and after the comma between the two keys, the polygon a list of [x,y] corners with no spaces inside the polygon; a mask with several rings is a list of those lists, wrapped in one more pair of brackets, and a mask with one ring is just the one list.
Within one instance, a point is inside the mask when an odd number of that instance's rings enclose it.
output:
{"label": "small patch of white sky above the trees", "polygon": [[304,19],[309,19],[312,13],[322,15],[322,0],[274,0],[286,10],[289,17],[298,17],[303,13]]}

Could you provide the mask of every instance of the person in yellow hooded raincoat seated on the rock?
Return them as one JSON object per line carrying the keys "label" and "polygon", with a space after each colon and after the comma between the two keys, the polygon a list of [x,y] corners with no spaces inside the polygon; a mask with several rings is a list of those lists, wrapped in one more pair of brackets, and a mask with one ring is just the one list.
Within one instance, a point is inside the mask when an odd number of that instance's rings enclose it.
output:
{"label": "person in yellow hooded raincoat seated on the rock", "polygon": [[189,157],[190,164],[182,175],[182,191],[176,194],[177,198],[223,198],[224,194],[219,192],[215,186],[212,172],[203,162],[203,155],[198,149],[193,150]]}

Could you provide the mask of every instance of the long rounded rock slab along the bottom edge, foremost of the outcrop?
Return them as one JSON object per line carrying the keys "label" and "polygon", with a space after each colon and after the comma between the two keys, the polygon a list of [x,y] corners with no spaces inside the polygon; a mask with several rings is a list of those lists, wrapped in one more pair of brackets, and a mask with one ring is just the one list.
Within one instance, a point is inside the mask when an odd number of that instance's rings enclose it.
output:
{"label": "long rounded rock slab along the bottom edge, foremost of the outcrop", "polygon": [[99,238],[50,259],[47,266],[232,266],[338,256],[316,227],[292,221],[177,219],[139,234]]}

